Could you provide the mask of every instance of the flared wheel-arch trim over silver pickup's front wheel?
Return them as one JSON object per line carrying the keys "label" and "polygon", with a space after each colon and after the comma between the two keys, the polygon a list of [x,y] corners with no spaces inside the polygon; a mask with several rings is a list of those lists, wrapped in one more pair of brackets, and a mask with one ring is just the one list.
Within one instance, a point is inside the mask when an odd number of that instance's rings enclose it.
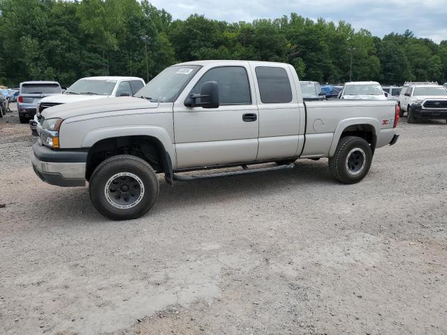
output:
{"label": "flared wheel-arch trim over silver pickup's front wheel", "polygon": [[170,161],[172,162],[173,167],[177,167],[174,144],[171,141],[166,129],[159,126],[116,126],[95,129],[94,131],[90,131],[87,135],[85,135],[84,139],[82,140],[82,147],[93,147],[96,142],[112,137],[144,135],[155,137],[159,140],[161,144],[163,144],[165,151],[170,156]]}

